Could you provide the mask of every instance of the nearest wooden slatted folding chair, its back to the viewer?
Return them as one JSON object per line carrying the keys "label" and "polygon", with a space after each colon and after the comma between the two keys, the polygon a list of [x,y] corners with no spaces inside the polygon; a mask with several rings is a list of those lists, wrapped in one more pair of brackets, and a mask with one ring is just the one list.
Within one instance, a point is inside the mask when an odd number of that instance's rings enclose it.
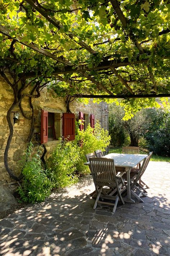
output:
{"label": "nearest wooden slatted folding chair, its back to the viewer", "polygon": [[[113,159],[90,158],[89,160],[97,193],[93,209],[96,208],[97,203],[102,203],[114,206],[113,212],[115,212],[119,199],[120,202],[124,204],[123,198],[121,197],[121,189],[122,186],[124,186],[122,176],[125,172],[121,173],[119,176],[116,175]],[[112,195],[113,191],[115,196]],[[106,202],[104,199],[115,200],[115,203]]]}

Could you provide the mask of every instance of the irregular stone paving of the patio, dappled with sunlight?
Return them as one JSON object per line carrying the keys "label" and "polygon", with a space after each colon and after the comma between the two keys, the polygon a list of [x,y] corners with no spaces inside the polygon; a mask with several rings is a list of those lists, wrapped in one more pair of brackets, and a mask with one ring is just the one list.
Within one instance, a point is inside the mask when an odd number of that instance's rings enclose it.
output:
{"label": "irregular stone paving of the patio, dappled with sunlight", "polygon": [[144,203],[98,205],[92,177],[0,220],[0,255],[170,255],[170,163],[150,162]]}

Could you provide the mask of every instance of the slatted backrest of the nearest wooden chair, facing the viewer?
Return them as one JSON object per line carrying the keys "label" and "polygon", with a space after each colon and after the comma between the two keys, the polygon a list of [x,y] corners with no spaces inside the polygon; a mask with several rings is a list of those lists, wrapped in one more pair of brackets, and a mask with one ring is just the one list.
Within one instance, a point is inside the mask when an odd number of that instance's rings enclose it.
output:
{"label": "slatted backrest of the nearest wooden chair, facing the viewer", "polygon": [[96,184],[117,184],[116,170],[113,159],[107,158],[90,158],[90,168],[93,180]]}

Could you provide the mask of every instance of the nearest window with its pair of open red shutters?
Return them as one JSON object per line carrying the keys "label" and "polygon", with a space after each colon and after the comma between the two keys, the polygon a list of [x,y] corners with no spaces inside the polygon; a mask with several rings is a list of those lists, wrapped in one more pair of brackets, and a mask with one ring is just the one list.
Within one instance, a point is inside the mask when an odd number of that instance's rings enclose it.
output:
{"label": "nearest window with its pair of open red shutters", "polygon": [[[63,124],[61,120],[63,118]],[[41,144],[47,141],[58,140],[61,137],[68,140],[75,138],[75,115],[70,113],[53,113],[41,110]]]}

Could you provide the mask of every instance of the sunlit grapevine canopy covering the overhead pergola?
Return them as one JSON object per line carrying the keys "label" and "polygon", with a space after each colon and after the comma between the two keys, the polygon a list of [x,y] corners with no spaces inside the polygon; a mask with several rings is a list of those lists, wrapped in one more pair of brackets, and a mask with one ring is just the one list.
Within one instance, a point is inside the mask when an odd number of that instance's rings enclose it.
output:
{"label": "sunlit grapevine canopy covering the overhead pergola", "polygon": [[[168,0],[3,0],[1,70],[48,79],[58,96],[169,94],[169,11]],[[155,101],[124,103],[130,116]]]}

